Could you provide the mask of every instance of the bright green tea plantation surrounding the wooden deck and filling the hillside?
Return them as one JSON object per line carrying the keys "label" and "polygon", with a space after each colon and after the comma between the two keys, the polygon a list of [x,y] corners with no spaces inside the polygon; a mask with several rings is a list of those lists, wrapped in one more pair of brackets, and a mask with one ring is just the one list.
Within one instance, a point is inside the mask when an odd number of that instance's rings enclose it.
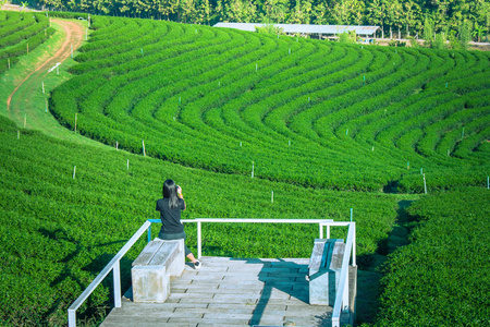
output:
{"label": "bright green tea plantation surrounding the wooden deck and filling the hillside", "polygon": [[[490,325],[488,53],[102,16],[91,29],[49,110],[108,146],[0,116],[0,326],[65,325],[68,306],[158,218],[167,178],[183,186],[184,219],[348,220],[353,208],[366,265],[399,202],[420,198],[366,325]],[[204,255],[308,257],[317,237],[317,226],[213,225]],[[123,289],[145,242],[121,263]],[[100,324],[111,282],[78,323]]]}

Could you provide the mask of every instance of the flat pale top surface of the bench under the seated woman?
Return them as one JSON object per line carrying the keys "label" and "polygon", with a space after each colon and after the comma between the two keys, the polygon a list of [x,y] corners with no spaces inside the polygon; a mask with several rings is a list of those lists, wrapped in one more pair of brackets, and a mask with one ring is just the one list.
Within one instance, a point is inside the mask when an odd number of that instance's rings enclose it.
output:
{"label": "flat pale top surface of the bench under the seated woman", "polygon": [[179,241],[151,241],[138,257],[133,262],[134,266],[168,266],[179,254]]}

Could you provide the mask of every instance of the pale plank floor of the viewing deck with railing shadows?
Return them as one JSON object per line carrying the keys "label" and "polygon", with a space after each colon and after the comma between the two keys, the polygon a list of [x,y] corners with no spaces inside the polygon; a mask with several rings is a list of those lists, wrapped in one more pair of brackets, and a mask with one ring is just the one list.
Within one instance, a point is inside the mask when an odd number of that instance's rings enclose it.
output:
{"label": "pale plank floor of the viewing deck with railing shadows", "polygon": [[130,289],[101,326],[331,326],[332,307],[308,304],[309,258],[201,263],[171,281],[166,303],[134,303]]}

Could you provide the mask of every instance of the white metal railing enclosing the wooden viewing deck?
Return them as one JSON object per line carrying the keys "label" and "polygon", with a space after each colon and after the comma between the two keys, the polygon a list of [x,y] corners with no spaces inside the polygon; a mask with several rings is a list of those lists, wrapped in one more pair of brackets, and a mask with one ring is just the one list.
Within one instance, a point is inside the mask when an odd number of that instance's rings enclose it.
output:
{"label": "white metal railing enclosing the wooden viewing deck", "polygon": [[[120,261],[130,251],[130,249],[136,243],[142,234],[148,232],[148,242],[151,239],[151,223],[161,222],[160,219],[148,219],[143,226],[134,233],[134,235],[127,241],[126,244],[118,252],[118,254],[107,264],[107,266],[100,271],[100,274],[94,279],[93,282],[85,289],[85,291],[70,305],[69,312],[69,327],[76,326],[76,310],[87,300],[87,298],[94,292],[94,290],[100,284],[100,282],[113,271],[113,287],[114,287],[114,307],[121,307],[121,270]],[[332,324],[340,322],[340,307],[343,305],[344,310],[348,310],[348,262],[351,261],[351,251],[353,255],[353,266],[356,266],[355,255],[355,222],[334,222],[332,219],[258,219],[258,218],[196,218],[196,219],[183,219],[182,222],[196,222],[197,223],[197,257],[201,257],[203,254],[203,237],[201,228],[203,222],[233,222],[233,223],[318,223],[319,238],[323,238],[323,227],[327,227],[327,238],[330,238],[331,226],[348,226],[347,242],[342,262],[341,279],[339,282],[338,294],[335,298],[335,304],[332,316]],[[342,295],[339,295],[342,294]],[[335,311],[336,308],[336,311]],[[338,325],[333,325],[336,327]]]}

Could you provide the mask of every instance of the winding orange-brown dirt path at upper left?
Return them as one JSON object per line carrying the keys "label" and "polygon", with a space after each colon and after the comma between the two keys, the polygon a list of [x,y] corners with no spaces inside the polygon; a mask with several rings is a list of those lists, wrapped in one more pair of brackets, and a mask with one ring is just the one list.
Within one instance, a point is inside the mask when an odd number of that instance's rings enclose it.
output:
{"label": "winding orange-brown dirt path at upper left", "polygon": [[[72,45],[73,45],[73,51],[75,51],[83,41],[83,25],[78,22],[71,22],[71,21],[63,21],[63,20],[52,20],[53,23],[57,23],[63,27],[64,33],[66,34],[66,37],[61,45],[61,47],[57,50],[54,56],[51,58],[44,60],[41,59],[36,69],[29,73],[16,87],[15,89],[9,95],[7,99],[7,110],[8,112],[13,117],[20,117],[19,112],[19,106],[15,106],[14,112],[11,112],[11,106],[12,106],[12,98],[17,93],[19,88],[21,88],[24,84],[27,84],[27,82],[33,78],[33,76],[42,77],[44,75],[48,74],[48,70],[52,66],[54,66],[58,62],[63,62],[66,58],[71,56],[72,51]],[[37,84],[36,84],[37,85]],[[32,86],[34,87],[34,85]],[[35,89],[30,89],[29,94],[34,93]],[[26,102],[28,102],[28,99],[23,99]],[[22,105],[21,105],[22,106]]]}

